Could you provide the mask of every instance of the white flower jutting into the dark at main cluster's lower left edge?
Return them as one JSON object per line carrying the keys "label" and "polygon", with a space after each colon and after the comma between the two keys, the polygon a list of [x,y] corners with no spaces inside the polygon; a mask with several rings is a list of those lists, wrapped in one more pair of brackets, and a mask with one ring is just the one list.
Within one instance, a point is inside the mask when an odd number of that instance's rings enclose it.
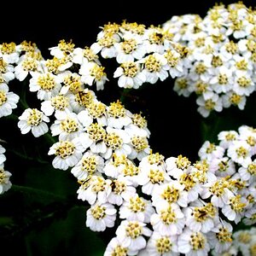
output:
{"label": "white flower jutting into the dark at main cluster's lower left edge", "polygon": [[112,204],[96,203],[90,206],[86,212],[86,227],[93,231],[104,231],[106,228],[112,228],[116,218],[116,209]]}

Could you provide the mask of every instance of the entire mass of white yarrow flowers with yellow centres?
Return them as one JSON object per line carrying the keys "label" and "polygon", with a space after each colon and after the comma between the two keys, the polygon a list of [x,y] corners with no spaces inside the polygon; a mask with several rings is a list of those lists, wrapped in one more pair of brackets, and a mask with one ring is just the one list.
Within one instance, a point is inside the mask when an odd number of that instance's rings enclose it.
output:
{"label": "entire mass of white yarrow flowers with yellow centres", "polygon": [[[224,99],[233,99],[230,95],[241,97],[243,103],[236,105],[243,108],[254,90],[254,14],[236,3],[214,7],[204,20],[185,15],[162,27],[109,23],[90,47],[61,40],[49,49],[52,59],[47,60],[31,42],[0,45],[0,117],[20,104],[25,108],[17,120],[22,134],[49,132],[56,139],[48,154],[54,155],[56,169],[70,170],[77,178],[78,199],[89,206],[86,226],[97,232],[115,229],[104,255],[255,251],[255,229],[234,228],[256,222],[255,129],[242,125],[220,132],[219,145],[204,143],[195,163],[181,154],[166,158],[150,148],[142,113],[96,96],[108,82],[102,56],[116,58],[113,78],[119,87],[137,89],[178,77],[174,90],[183,96],[201,94],[197,103],[204,117],[221,111]],[[220,84],[219,77],[227,83]],[[40,108],[26,106],[9,91],[13,79],[28,81]],[[92,85],[96,88],[90,90]],[[11,188],[4,153],[1,146],[0,194]]]}

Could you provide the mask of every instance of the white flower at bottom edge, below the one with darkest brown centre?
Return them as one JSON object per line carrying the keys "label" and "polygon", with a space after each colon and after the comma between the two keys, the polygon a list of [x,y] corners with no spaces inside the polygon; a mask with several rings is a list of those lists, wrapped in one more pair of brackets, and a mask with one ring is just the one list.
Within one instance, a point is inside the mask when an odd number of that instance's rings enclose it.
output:
{"label": "white flower at bottom edge, below the one with darkest brown centre", "polygon": [[186,256],[208,255],[210,246],[207,236],[203,233],[185,228],[177,238],[177,249],[178,252],[184,253]]}

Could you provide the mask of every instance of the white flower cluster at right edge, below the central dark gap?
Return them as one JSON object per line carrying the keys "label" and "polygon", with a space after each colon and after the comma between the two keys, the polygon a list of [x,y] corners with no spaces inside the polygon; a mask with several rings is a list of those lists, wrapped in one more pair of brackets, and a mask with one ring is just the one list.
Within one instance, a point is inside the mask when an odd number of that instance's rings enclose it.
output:
{"label": "white flower cluster at right edge, below the central dark gap", "polygon": [[210,172],[218,179],[204,185],[202,198],[222,208],[222,213],[237,224],[256,223],[256,130],[241,125],[236,131],[221,131],[219,145],[205,142],[199,150]]}

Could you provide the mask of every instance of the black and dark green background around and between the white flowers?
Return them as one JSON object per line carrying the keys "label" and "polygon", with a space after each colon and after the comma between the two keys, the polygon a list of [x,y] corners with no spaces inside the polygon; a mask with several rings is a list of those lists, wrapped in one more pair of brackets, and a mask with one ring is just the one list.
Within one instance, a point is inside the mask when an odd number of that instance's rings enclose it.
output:
{"label": "black and dark green background around and between the white flowers", "polygon": [[[1,3],[0,37],[1,42],[6,43],[32,41],[44,57],[49,58],[49,47],[56,46],[61,39],[73,39],[77,47],[90,46],[96,42],[99,27],[108,21],[121,23],[127,20],[157,26],[170,20],[172,15],[198,14],[203,17],[215,2],[9,1]],[[251,6],[253,2],[243,3]],[[107,71],[113,72],[116,63],[108,61],[103,62]],[[106,89],[98,94],[102,102],[116,101],[122,95],[112,73],[108,74],[108,79]],[[166,157],[183,154],[194,162],[201,144],[206,139],[216,141],[218,131],[255,124],[251,118],[255,96],[248,101],[244,112],[230,108],[203,119],[197,113],[195,97],[177,96],[172,90],[173,81],[168,78],[162,83],[145,84],[140,90],[131,90],[125,98],[127,109],[132,113],[142,111],[148,119],[148,128],[152,132],[149,143],[154,152]],[[18,250],[20,255],[102,255],[105,243],[113,234],[96,234],[85,228],[85,204],[76,198],[79,186],[69,172],[51,167],[53,158],[47,155],[49,144],[45,138],[36,139],[31,134],[20,137],[13,120],[0,121],[1,131],[4,131],[1,138],[9,142],[5,166],[13,173],[11,181],[14,184],[9,192],[0,195],[1,247],[9,253]],[[13,154],[23,152],[22,145],[26,146],[26,159]],[[39,166],[34,160],[38,158],[38,151],[44,162]]]}

